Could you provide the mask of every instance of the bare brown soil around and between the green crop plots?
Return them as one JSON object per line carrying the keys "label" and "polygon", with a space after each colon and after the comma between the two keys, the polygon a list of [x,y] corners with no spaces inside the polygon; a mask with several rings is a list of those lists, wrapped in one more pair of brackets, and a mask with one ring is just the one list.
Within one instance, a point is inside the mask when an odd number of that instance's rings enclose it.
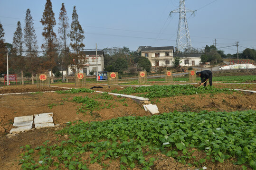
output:
{"label": "bare brown soil around and between the green crop plots", "polygon": [[[223,84],[224,85],[224,84]],[[58,85],[65,87],[74,87],[74,84]],[[107,85],[87,85],[86,88],[92,86],[102,86],[102,89],[94,89],[98,91],[111,92],[114,89],[121,90],[123,86]],[[234,87],[232,85],[232,87]],[[253,87],[255,88],[255,86]],[[44,89],[43,91],[64,90],[55,87]],[[10,86],[0,88],[0,93],[20,93],[20,92],[36,92],[36,85],[25,86]],[[104,108],[92,112],[77,114],[77,108],[81,107],[81,103],[72,102],[75,96],[96,97],[99,93],[77,93],[77,94],[57,94],[57,93],[32,93],[32,94],[11,94],[0,95],[0,169],[1,170],[18,170],[19,154],[22,153],[20,146],[30,144],[31,147],[41,145],[46,140],[51,144],[63,140],[63,136],[57,136],[55,130],[66,126],[66,122],[83,120],[95,121],[106,120],[123,116],[148,116],[142,105],[132,99],[126,98],[126,101],[121,102],[122,98],[114,96],[113,100],[95,99],[101,103],[107,102],[110,104],[110,109]],[[233,110],[248,110],[256,109],[256,94],[252,93],[233,93],[233,94],[197,94],[188,96],[176,96],[169,98],[153,99],[152,102],[157,104],[159,111],[170,112],[178,111],[200,111],[200,110],[215,110],[215,111],[233,111]],[[128,106],[125,106],[126,103]],[[49,107],[52,106],[52,109]],[[103,106],[103,105],[102,105]],[[101,107],[102,107],[101,106]],[[5,136],[12,128],[14,117],[33,115],[37,113],[53,112],[54,123],[60,124],[60,127],[42,128],[30,130],[25,133],[20,133],[16,136],[8,138]],[[193,153],[197,157],[197,161],[205,157],[205,153],[196,151]],[[89,154],[88,154],[89,155]],[[88,157],[87,155],[87,157]],[[151,155],[156,159],[152,170],[188,170],[195,169],[188,165],[177,162],[171,157],[155,153]],[[86,155],[85,155],[85,159]],[[94,163],[89,165],[90,170],[119,170],[120,160],[105,160],[106,167]],[[189,161],[187,161],[189,163]],[[192,163],[192,162],[191,162]],[[202,166],[206,166],[208,170],[241,170],[241,166],[234,165],[231,160],[224,163],[207,161]],[[202,168],[200,165],[199,168]],[[133,170],[140,170],[136,167]]]}

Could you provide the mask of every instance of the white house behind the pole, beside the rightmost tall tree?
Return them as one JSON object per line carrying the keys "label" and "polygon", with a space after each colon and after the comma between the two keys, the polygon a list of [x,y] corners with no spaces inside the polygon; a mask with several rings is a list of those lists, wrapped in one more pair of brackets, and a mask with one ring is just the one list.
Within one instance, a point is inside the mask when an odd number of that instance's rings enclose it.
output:
{"label": "white house behind the pole, beside the rightmost tall tree", "polygon": [[[96,61],[98,58],[98,71],[104,71],[104,51],[83,51],[81,58],[85,59],[84,67],[79,68],[79,73],[86,73],[89,75],[90,71],[96,72]],[[79,59],[80,60],[80,59]],[[77,72],[77,68],[75,65],[68,66],[68,75],[75,74]]]}

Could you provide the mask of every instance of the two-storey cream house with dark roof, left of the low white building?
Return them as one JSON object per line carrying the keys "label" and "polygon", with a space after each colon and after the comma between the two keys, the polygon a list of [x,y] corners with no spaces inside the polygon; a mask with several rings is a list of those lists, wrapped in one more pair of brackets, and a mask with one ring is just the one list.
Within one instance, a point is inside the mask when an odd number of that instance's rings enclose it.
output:
{"label": "two-storey cream house with dark roof, left of the low white building", "polygon": [[142,57],[146,57],[150,60],[152,67],[159,66],[172,66],[173,60],[173,46],[167,47],[151,47],[140,46],[137,50],[141,51]]}

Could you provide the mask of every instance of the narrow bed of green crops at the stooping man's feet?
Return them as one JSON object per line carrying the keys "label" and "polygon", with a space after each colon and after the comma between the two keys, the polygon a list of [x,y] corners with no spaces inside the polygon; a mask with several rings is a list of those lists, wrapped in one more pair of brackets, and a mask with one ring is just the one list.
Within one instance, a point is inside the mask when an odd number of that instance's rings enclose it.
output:
{"label": "narrow bed of green crops at the stooping man's feet", "polygon": [[132,94],[132,93],[144,93],[137,94],[141,97],[156,98],[156,97],[171,97],[178,95],[191,95],[199,93],[233,93],[233,90],[228,88],[219,89],[213,86],[201,86],[195,88],[193,85],[152,85],[142,87],[127,87],[120,91],[113,91],[113,93]]}

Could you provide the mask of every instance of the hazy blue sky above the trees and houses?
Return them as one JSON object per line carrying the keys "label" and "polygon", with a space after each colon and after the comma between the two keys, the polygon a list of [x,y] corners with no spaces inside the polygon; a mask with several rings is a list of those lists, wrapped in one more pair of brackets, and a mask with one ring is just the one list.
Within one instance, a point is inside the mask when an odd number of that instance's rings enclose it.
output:
{"label": "hazy blue sky above the trees and houses", "polygon": [[[85,32],[85,49],[176,45],[180,0],[51,0],[58,23],[61,3],[65,4],[69,24],[73,7]],[[5,42],[12,43],[17,22],[25,26],[26,10],[31,10],[38,47],[45,41],[41,20],[46,0],[0,0],[0,23]],[[212,45],[226,54],[256,49],[256,0],[186,0],[186,8],[196,10],[195,17],[187,13],[192,46]],[[58,24],[54,27],[57,33]],[[69,40],[68,40],[69,41]],[[70,41],[69,41],[70,42]],[[215,41],[214,41],[215,43]]]}

